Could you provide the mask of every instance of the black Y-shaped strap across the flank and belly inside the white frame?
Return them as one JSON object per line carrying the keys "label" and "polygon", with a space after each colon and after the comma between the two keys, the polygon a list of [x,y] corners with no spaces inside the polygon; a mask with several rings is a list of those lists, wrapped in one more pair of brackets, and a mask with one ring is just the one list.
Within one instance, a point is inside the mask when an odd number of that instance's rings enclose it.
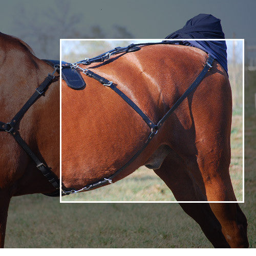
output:
{"label": "black Y-shaped strap across the flank and belly inside the white frame", "polygon": [[106,183],[112,183],[112,180],[122,172],[127,166],[129,166],[132,162],[136,160],[136,158],[143,152],[143,150],[146,148],[146,146],[151,142],[151,140],[154,138],[154,136],[158,133],[158,130],[162,126],[162,124],[167,120],[167,118],[178,108],[178,106],[183,102],[183,100],[191,93],[193,92],[200,84],[200,82],[205,77],[206,73],[212,68],[212,62],[214,61],[214,57],[211,55],[208,55],[208,59],[206,61],[206,64],[204,65],[203,70],[200,72],[196,80],[188,87],[188,89],[182,94],[182,96],[175,102],[175,104],[172,106],[172,108],[167,111],[167,113],[155,124],[153,121],[151,121],[150,118],[147,117],[145,113],[139,107],[130,99],[128,98],[123,92],[121,92],[119,89],[116,88],[115,84],[112,81],[109,81],[108,79],[105,79],[104,77],[101,77],[94,72],[88,70],[86,72],[83,72],[84,74],[88,75],[89,77],[92,77],[103,84],[103,86],[111,88],[114,92],[116,92],[127,104],[132,106],[132,108],[142,117],[142,119],[147,123],[147,125],[151,128],[151,133],[148,135],[148,138],[145,142],[145,144],[140,148],[140,150],[121,168],[119,168],[113,175],[111,175],[108,178],[101,179],[97,182],[94,182],[92,184],[89,184],[79,190],[73,190],[73,189],[67,189],[65,187],[62,188],[62,195],[69,195],[69,194],[75,194],[81,191],[88,191],[93,188],[100,187]]}

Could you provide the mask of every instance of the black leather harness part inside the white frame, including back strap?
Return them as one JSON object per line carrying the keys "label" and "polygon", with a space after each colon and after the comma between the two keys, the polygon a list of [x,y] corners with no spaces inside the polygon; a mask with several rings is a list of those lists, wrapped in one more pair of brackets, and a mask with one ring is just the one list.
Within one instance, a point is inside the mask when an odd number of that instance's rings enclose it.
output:
{"label": "black leather harness part inside the white frame, including back strap", "polygon": [[[66,80],[67,84],[69,87],[75,90],[82,90],[85,87],[85,83],[83,84],[81,81],[78,82],[73,82],[72,79],[67,80],[66,75],[63,76],[63,74],[67,74],[70,72],[70,70],[73,70],[75,72],[76,70],[82,71],[82,73],[86,74],[87,76],[99,81],[103,86],[109,87],[112,89],[115,93],[117,93],[127,104],[129,104],[140,116],[141,118],[146,122],[148,127],[151,129],[151,133],[148,135],[147,140],[145,141],[144,145],[140,148],[140,150],[128,161],[126,162],[121,168],[119,168],[114,174],[112,174],[108,178],[103,178],[97,182],[94,182],[92,184],[86,185],[83,188],[79,190],[75,190],[72,188],[66,188],[65,186],[62,185],[61,193],[62,195],[69,195],[69,194],[76,194],[81,191],[88,191],[97,187],[100,187],[104,185],[105,183],[113,183],[112,180],[122,172],[127,166],[129,166],[145,149],[145,147],[151,142],[151,140],[154,138],[154,136],[158,133],[160,127],[162,124],[167,120],[167,118],[178,108],[178,106],[181,104],[181,102],[191,93],[193,92],[200,84],[200,82],[203,80],[205,77],[206,73],[210,70],[212,67],[212,62],[214,61],[214,57],[211,55],[208,55],[208,59],[204,65],[203,70],[200,72],[196,80],[189,86],[189,88],[183,93],[183,95],[176,101],[176,103],[170,108],[167,113],[157,122],[154,123],[140,108],[138,105],[135,104],[133,100],[131,100],[129,97],[127,97],[122,91],[120,91],[115,83],[112,81],[109,81],[108,79],[92,72],[89,69],[83,69],[79,65],[90,65],[93,62],[103,62],[105,60],[110,59],[110,56],[114,54],[119,54],[123,52],[132,52],[132,51],[138,51],[141,48],[139,46],[145,46],[145,45],[156,45],[156,44],[171,44],[172,42],[177,41],[163,41],[163,42],[157,42],[157,43],[147,43],[147,44],[132,44],[128,47],[117,47],[109,52],[103,53],[97,57],[94,58],[87,58],[75,63],[67,63],[63,62],[61,63],[61,73],[62,73],[62,78]],[[78,77],[77,77],[78,78]],[[79,79],[78,79],[79,80]]]}

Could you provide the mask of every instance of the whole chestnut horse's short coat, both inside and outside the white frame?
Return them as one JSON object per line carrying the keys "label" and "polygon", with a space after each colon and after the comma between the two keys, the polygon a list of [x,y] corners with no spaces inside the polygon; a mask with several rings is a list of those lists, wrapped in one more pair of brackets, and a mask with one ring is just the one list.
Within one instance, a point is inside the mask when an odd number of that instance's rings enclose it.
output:
{"label": "whole chestnut horse's short coat, both inside and outside the white frame", "polygon": [[[52,68],[36,58],[24,42],[2,33],[0,52],[0,120],[6,122]],[[195,79],[205,59],[206,54],[197,49],[154,46],[125,54],[111,65],[92,66],[115,81],[157,121]],[[144,143],[149,132],[118,95],[87,77],[84,79],[87,87],[81,91],[62,84],[62,179],[65,185],[77,188],[115,172]],[[180,105],[124,176],[140,165],[150,164],[178,200],[233,200],[228,174],[230,93],[227,76],[216,62],[194,95]],[[58,82],[29,109],[19,128],[31,149],[59,176]],[[0,134],[0,145],[0,247],[3,247],[11,197],[50,193],[52,186],[9,134]],[[199,223],[215,247],[248,246],[246,218],[238,204],[181,206]]]}

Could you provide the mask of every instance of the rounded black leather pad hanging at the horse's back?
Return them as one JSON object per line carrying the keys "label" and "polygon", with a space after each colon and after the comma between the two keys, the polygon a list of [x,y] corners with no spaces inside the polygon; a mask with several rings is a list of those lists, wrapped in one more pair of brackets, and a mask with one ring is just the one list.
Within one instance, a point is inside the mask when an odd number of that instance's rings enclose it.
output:
{"label": "rounded black leather pad hanging at the horse's back", "polygon": [[82,90],[86,88],[86,82],[83,80],[81,74],[74,68],[69,66],[66,61],[61,61],[61,76],[68,85],[74,90]]}

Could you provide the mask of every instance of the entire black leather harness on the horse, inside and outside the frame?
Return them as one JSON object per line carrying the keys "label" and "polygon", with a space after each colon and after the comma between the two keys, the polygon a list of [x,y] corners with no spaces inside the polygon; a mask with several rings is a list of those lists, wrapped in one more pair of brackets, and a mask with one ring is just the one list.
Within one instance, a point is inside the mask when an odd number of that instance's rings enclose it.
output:
{"label": "entire black leather harness on the horse, inside and outside the frame", "polygon": [[[176,103],[170,108],[167,113],[157,122],[154,123],[129,97],[127,97],[122,91],[120,91],[116,86],[115,83],[109,81],[108,79],[99,76],[98,74],[92,72],[89,69],[82,69],[79,65],[90,65],[93,62],[103,62],[105,60],[110,59],[110,56],[119,54],[119,53],[127,53],[127,52],[134,52],[140,50],[140,46],[146,45],[157,45],[157,44],[171,44],[173,41],[163,41],[163,42],[156,42],[156,43],[145,43],[145,44],[132,44],[127,47],[116,47],[115,49],[98,55],[94,58],[87,58],[75,63],[67,63],[65,61],[61,62],[61,73],[62,78],[67,82],[67,85],[75,90],[82,90],[86,83],[82,79],[81,75],[78,73],[82,71],[82,73],[86,74],[87,76],[99,81],[103,86],[109,87],[115,93],[117,93],[127,104],[129,104],[146,122],[148,127],[150,127],[151,132],[148,135],[147,140],[145,141],[144,145],[140,148],[140,150],[128,161],[126,162],[121,168],[119,168],[113,175],[108,178],[103,178],[97,182],[84,186],[79,190],[75,190],[72,188],[66,188],[65,186],[61,186],[61,195],[69,195],[69,194],[76,194],[81,191],[88,191],[93,188],[100,187],[105,183],[112,183],[112,180],[122,172],[127,166],[129,166],[145,149],[145,147],[151,142],[154,136],[158,133],[158,130],[162,126],[162,124],[166,121],[166,119],[178,108],[181,102],[191,93],[193,92],[203,80],[204,76],[208,72],[208,70],[212,67],[212,62],[214,61],[214,57],[208,55],[208,59],[204,65],[203,70],[200,72],[196,80],[189,86],[189,88],[184,92],[184,94],[176,101]],[[177,43],[177,41],[175,41]],[[49,73],[45,80],[40,84],[40,86],[35,90],[34,94],[29,98],[29,100],[24,104],[22,109],[11,119],[10,122],[5,123],[0,121],[0,132],[7,132],[14,137],[17,143],[24,149],[24,151],[30,156],[30,158],[35,162],[36,167],[40,170],[42,175],[46,177],[46,179],[52,184],[54,188],[54,192],[50,194],[44,194],[47,196],[59,196],[59,188],[60,188],[60,180],[59,178],[52,172],[51,168],[48,165],[41,161],[30,149],[29,145],[22,139],[18,132],[18,123],[23,118],[25,113],[28,111],[30,106],[36,102],[38,98],[45,94],[50,84],[54,81],[55,73],[59,73],[59,61],[58,60],[44,60],[49,65],[54,68],[53,73]]]}

